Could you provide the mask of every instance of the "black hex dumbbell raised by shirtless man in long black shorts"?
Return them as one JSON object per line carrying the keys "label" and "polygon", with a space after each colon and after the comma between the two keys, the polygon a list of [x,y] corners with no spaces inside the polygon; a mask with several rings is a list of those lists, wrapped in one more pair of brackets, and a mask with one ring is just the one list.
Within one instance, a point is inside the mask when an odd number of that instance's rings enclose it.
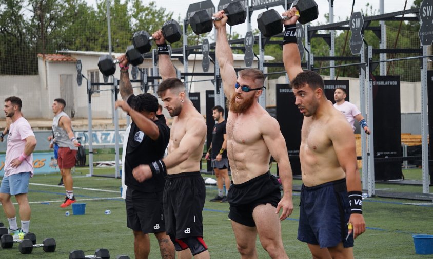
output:
{"label": "black hex dumbbell raised by shirtless man in long black shorts", "polygon": [[[181,39],[181,26],[173,19],[167,20],[162,28],[164,38],[174,43]],[[147,53],[152,49],[153,37],[147,31],[137,31],[132,36],[132,44],[141,54]]]}

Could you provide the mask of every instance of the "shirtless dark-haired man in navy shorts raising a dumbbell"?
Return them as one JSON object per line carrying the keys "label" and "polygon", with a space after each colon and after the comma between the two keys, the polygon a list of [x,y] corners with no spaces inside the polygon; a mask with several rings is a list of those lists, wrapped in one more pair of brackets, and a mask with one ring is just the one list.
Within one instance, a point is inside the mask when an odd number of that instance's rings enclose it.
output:
{"label": "shirtless dark-haired man in navy shorts raising a dumbbell", "polygon": [[365,231],[355,136],[326,98],[322,77],[302,71],[295,12],[283,13],[291,17],[284,21],[283,62],[304,115],[298,239],[308,244],[313,258],[353,258],[353,239]]}

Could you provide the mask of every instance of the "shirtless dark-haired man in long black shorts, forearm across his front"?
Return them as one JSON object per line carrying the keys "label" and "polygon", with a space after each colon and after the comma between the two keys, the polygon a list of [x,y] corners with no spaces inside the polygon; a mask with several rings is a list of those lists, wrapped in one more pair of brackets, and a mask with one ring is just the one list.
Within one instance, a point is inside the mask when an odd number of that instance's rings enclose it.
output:
{"label": "shirtless dark-haired man in long black shorts, forearm across his front", "polygon": [[191,258],[191,253],[194,258],[210,258],[203,240],[206,190],[200,175],[206,122],[188,99],[185,85],[176,78],[162,31],[153,33],[152,37],[158,45],[158,66],[163,79],[157,93],[174,119],[168,156],[140,165],[133,174],[139,182],[158,175],[167,176],[163,197],[166,231],[180,252],[178,258]]}

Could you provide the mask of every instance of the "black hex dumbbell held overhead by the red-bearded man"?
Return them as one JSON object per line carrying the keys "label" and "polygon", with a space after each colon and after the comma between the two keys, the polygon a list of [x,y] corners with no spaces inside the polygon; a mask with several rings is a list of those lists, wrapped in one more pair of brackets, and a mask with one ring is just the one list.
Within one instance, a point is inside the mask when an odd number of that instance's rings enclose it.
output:
{"label": "black hex dumbbell held overhead by the red-bearded man", "polygon": [[[227,24],[230,26],[243,24],[247,17],[247,12],[241,2],[230,2],[226,8],[223,9],[227,15]],[[220,20],[210,14],[206,10],[196,11],[189,17],[189,24],[192,31],[199,35],[210,32],[213,28],[213,21]]]}

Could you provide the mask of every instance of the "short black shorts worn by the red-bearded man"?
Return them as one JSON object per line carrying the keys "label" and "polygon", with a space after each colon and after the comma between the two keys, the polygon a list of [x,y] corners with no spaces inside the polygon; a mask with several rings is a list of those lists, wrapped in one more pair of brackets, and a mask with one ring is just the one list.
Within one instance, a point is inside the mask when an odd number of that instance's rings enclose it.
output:
{"label": "short black shorts worn by the red-bearded man", "polygon": [[230,204],[228,217],[242,225],[255,227],[252,218],[254,208],[267,203],[276,208],[280,200],[280,183],[269,171],[245,183],[233,184],[232,181],[227,193]]}

